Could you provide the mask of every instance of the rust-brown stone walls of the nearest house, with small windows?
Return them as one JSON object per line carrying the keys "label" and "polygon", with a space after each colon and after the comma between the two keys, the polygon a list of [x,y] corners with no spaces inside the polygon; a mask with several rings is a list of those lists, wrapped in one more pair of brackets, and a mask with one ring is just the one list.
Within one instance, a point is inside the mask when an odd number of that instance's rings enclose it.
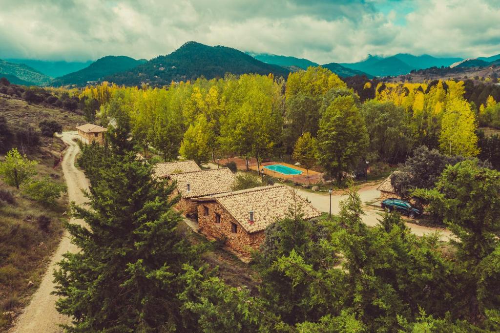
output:
{"label": "rust-brown stone walls of the nearest house, with small windows", "polygon": [[[204,207],[208,209],[208,215],[205,215]],[[246,232],[231,214],[215,201],[200,201],[197,208],[198,226],[201,232],[224,241],[227,246],[239,253],[250,254],[250,250],[258,249],[264,240],[263,230]],[[216,213],[220,215],[220,223],[216,222]],[[232,232],[231,222],[236,224],[236,232]]]}

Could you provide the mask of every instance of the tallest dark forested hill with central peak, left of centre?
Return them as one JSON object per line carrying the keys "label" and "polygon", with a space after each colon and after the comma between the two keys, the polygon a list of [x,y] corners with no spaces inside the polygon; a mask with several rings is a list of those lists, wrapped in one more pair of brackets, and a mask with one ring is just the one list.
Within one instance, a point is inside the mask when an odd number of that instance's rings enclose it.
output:
{"label": "tallest dark forested hill with central peak, left of centre", "polygon": [[223,77],[226,73],[258,73],[288,76],[289,70],[259,61],[237,49],[226,46],[208,46],[188,41],[168,55],[160,55],[130,70],[109,75],[104,79],[117,84],[153,85],[186,81],[204,76]]}

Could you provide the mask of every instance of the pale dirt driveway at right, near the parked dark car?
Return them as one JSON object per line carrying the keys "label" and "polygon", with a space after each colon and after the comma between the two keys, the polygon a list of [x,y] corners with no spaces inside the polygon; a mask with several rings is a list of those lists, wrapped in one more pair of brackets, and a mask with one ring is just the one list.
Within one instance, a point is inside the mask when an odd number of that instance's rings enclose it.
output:
{"label": "pale dirt driveway at right, near the parked dark car", "polygon": [[[380,195],[380,192],[375,189],[375,186],[368,188],[361,188],[358,192],[359,197],[362,202],[373,202],[376,201]],[[329,195],[328,194],[320,194],[320,193],[311,193],[301,189],[297,189],[297,194],[302,197],[306,197],[311,201],[311,204],[318,209],[319,211],[328,212],[329,211]],[[331,195],[331,213],[338,214],[340,211],[340,200],[344,199],[345,195],[342,194],[332,194]],[[366,215],[363,215],[363,222],[367,225],[374,226],[378,223],[378,219],[381,219],[382,216],[380,213],[381,209],[376,209],[372,206],[365,205],[363,207]],[[422,236],[427,233],[439,231],[441,240],[448,241],[450,237],[452,237],[452,233],[446,229],[433,228],[423,225],[418,225],[415,223],[411,223],[408,219],[405,219],[406,226],[416,234],[417,236]]]}

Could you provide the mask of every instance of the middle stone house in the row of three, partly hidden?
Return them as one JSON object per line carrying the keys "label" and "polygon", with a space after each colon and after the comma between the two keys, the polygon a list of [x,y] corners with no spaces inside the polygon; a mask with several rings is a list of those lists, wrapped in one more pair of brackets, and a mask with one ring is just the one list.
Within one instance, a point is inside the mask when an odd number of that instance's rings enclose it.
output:
{"label": "middle stone house in the row of three, partly hidden", "polygon": [[172,173],[168,176],[175,181],[172,195],[180,194],[175,208],[186,216],[196,216],[197,202],[194,198],[231,191],[231,185],[236,180],[227,167],[219,169],[197,170],[182,173]]}

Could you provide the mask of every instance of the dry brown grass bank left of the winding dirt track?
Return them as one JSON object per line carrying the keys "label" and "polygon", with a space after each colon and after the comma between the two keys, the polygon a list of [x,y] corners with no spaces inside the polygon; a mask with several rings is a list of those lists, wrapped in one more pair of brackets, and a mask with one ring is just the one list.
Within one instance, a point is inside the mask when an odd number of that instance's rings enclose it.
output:
{"label": "dry brown grass bank left of the winding dirt track", "polygon": [[[58,111],[52,110],[54,112]],[[36,178],[48,175],[53,181],[63,181],[59,162],[64,147],[57,137],[41,137],[39,147],[24,151],[28,158],[39,161]],[[19,151],[23,152],[22,149]],[[1,158],[3,155],[0,154]],[[50,256],[61,239],[62,224],[67,219],[63,213],[68,202],[64,195],[54,206],[44,206],[1,179],[0,189],[13,197],[10,200],[8,194],[0,195],[6,198],[0,200],[0,331],[4,331],[12,318],[2,313],[19,313],[41,281]],[[46,227],[38,222],[42,215],[50,219]]]}

